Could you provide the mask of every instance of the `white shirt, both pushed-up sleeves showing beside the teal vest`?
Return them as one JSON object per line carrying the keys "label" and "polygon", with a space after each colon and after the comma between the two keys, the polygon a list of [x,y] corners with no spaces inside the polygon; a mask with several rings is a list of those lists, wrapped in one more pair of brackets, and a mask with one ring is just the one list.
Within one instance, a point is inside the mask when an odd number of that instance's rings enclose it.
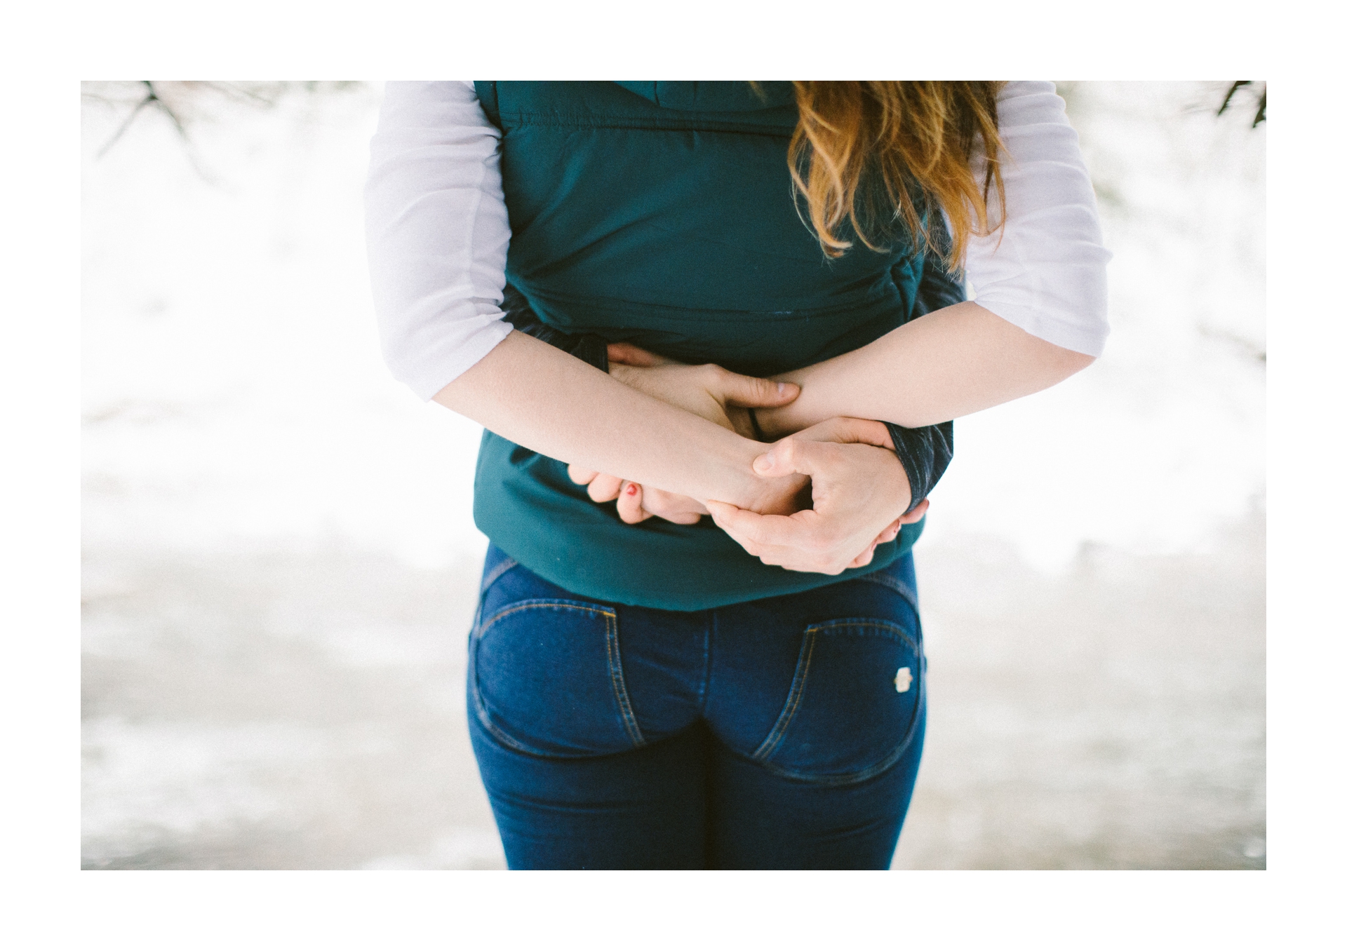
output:
{"label": "white shirt, both pushed-up sleeves showing beside the teal vest", "polygon": [[[977,302],[1096,357],[1109,334],[1110,253],[1065,102],[1051,82],[1010,82],[997,110],[1006,221],[968,240]],[[500,308],[509,248],[500,129],[470,82],[388,84],[365,216],[384,358],[428,400],[511,331]]]}

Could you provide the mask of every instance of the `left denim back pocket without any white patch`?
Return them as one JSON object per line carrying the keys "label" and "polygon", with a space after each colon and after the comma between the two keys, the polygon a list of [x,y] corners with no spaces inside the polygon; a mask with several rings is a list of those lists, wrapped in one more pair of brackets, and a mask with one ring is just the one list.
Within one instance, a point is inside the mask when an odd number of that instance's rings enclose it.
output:
{"label": "left denim back pocket without any white patch", "polygon": [[482,726],[523,753],[602,756],[645,744],[607,605],[527,598],[497,608],[473,630],[467,682]]}

